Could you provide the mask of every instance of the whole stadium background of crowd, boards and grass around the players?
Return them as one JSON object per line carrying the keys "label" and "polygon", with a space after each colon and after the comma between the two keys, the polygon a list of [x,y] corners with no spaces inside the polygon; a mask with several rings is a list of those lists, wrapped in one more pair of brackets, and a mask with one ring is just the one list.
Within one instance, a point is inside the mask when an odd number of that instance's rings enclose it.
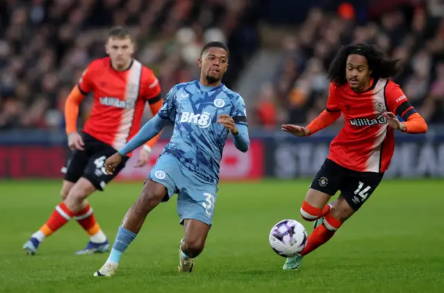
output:
{"label": "whole stadium background of crowd, boards and grass around the players", "polygon": [[[0,1],[0,214],[8,219],[0,222],[0,292],[442,292],[443,16],[440,0]],[[20,250],[60,202],[70,154],[65,100],[87,64],[104,56],[114,25],[130,28],[135,57],[155,71],[163,94],[198,78],[205,42],[226,42],[231,51],[223,82],[246,100],[251,147],[243,154],[225,146],[216,229],[196,260],[197,278],[174,272],[182,234],[174,203],[150,214],[114,280],[91,277],[105,256],[73,255],[87,241],[76,223],[32,259]],[[395,81],[429,132],[397,134],[386,172],[392,179],[301,272],[285,274],[268,246],[269,229],[283,218],[300,220],[309,180],[343,122],[308,139],[289,137],[280,124],[306,125],[322,111],[327,66],[351,42],[377,44],[402,60],[406,69]],[[79,129],[91,105],[83,101]],[[148,166],[133,168],[133,156],[121,183],[90,198],[110,240],[170,135],[162,134]]]}

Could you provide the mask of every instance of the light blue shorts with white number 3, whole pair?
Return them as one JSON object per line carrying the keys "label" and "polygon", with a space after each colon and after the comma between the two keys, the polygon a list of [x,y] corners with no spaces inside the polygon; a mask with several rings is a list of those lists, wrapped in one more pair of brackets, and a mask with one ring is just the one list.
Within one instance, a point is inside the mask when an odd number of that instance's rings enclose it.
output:
{"label": "light blue shorts with white number 3, whole pair", "polygon": [[167,197],[162,202],[167,202],[175,194],[178,195],[180,224],[186,219],[212,224],[216,204],[216,184],[197,177],[171,154],[162,154],[157,159],[148,179],[167,188]]}

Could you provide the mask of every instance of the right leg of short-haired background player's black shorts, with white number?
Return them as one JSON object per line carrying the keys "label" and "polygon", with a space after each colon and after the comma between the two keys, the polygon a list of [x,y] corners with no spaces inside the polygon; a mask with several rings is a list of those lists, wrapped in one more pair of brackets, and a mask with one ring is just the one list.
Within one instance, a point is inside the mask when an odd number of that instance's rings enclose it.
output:
{"label": "right leg of short-haired background player's black shorts, with white number", "polygon": [[123,157],[119,165],[116,167],[115,172],[109,175],[105,171],[105,160],[112,156],[116,150],[114,148],[108,147],[103,148],[99,152],[94,152],[89,156],[85,172],[83,172],[82,177],[87,179],[96,188],[96,190],[103,191],[103,188],[116,177],[119,172],[125,168],[125,164],[128,161],[128,157]]}

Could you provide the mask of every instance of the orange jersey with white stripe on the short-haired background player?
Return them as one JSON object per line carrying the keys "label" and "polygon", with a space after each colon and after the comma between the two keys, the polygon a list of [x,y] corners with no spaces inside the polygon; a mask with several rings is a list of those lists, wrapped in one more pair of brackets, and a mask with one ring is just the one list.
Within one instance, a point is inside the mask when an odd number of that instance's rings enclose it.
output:
{"label": "orange jersey with white stripe on the short-haired background player", "polygon": [[133,60],[116,71],[110,57],[94,60],[78,82],[82,94],[94,91],[94,105],[84,132],[119,150],[139,131],[146,101],[160,100],[160,85],[153,71]]}

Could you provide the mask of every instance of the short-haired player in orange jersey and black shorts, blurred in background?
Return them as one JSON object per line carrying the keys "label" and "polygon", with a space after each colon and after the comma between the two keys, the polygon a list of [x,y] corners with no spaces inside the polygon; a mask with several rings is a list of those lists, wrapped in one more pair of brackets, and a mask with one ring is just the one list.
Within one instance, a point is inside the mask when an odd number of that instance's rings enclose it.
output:
{"label": "short-haired player in orange jersey and black shorts, blurred in background", "polygon": [[[108,251],[110,244],[96,222],[88,195],[103,190],[125,166],[131,154],[123,158],[117,172],[105,172],[105,159],[117,152],[137,134],[146,102],[153,115],[162,106],[160,85],[153,71],[133,59],[134,43],[128,30],[112,28],[105,45],[109,57],[94,60],[72,89],[65,106],[69,147],[74,150],[61,190],[62,202],[49,220],[31,236],[23,249],[35,254],[42,241],[74,217],[90,236],[85,249],[76,254]],[[94,91],[94,105],[83,132],[77,132],[78,107],[86,94]],[[139,155],[137,167],[144,166],[159,135],[148,141]]]}

